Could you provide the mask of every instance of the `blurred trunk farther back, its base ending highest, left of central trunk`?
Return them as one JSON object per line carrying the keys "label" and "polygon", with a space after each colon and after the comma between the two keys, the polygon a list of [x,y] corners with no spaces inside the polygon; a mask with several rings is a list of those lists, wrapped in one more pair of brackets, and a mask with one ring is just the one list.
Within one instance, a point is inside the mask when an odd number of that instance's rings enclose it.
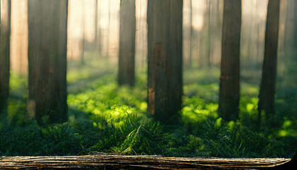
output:
{"label": "blurred trunk farther back, its base ending highest, left of central trunk", "polygon": [[119,85],[134,86],[135,33],[135,0],[121,0]]}

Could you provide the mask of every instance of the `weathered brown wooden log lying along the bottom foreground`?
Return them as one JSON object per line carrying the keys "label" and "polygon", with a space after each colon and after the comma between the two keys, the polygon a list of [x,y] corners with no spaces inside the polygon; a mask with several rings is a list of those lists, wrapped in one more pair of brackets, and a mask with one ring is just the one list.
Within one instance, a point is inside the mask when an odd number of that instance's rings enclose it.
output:
{"label": "weathered brown wooden log lying along the bottom foreground", "polygon": [[[293,159],[292,159],[293,160]],[[284,169],[291,159],[222,159],[88,155],[0,157],[0,169]]]}

